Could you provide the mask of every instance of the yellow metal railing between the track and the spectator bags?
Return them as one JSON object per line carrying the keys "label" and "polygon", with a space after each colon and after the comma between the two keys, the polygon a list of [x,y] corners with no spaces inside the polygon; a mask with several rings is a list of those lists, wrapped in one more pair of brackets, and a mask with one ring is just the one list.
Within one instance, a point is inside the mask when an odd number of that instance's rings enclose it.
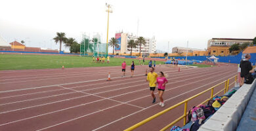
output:
{"label": "yellow metal railing between the track and the spectator bags", "polygon": [[[234,79],[233,83],[229,83],[230,80]],[[224,92],[224,94],[228,91],[228,88],[230,85],[236,83],[236,79],[237,79],[237,75],[235,75],[234,77],[231,77],[230,79],[223,81],[219,84],[216,84],[215,86],[212,86],[211,88],[208,88],[207,90],[204,90],[203,92],[200,92],[199,94],[196,94],[195,96],[192,96],[182,102],[179,102],[163,111],[161,111],[160,113],[156,113],[155,115],[152,115],[151,117],[148,117],[147,119],[144,119],[143,121],[140,121],[139,123],[125,129],[125,131],[130,131],[130,130],[135,130],[136,128],[138,128],[139,126],[142,126],[143,124],[145,124],[146,122],[152,121],[152,119],[155,119],[156,117],[159,117],[160,115],[163,115],[164,113],[167,113],[168,111],[171,111],[172,109],[175,109],[176,107],[178,107],[179,105],[182,105],[184,103],[184,114],[179,117],[178,119],[176,119],[175,121],[171,122],[170,124],[168,124],[167,126],[165,126],[164,128],[161,129],[161,131],[163,130],[167,130],[169,127],[173,126],[173,124],[176,124],[177,122],[181,121],[181,119],[183,119],[183,125],[186,124],[186,116],[188,115],[188,101],[204,94],[205,92],[211,90],[211,96],[210,98],[208,98],[207,100],[203,101],[202,103],[200,103],[199,105],[208,102],[209,100],[211,100],[213,97],[217,96],[218,94],[220,94],[221,92]],[[221,85],[224,83],[224,88],[219,90],[219,92],[217,92],[216,94],[213,94],[214,88],[216,88],[217,86]]]}

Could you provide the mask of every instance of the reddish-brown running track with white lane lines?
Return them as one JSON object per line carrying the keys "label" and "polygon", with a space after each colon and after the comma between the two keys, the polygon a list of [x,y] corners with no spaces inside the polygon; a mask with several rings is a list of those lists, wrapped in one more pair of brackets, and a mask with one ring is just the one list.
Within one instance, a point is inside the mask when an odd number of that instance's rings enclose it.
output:
{"label": "reddish-brown running track with white lane lines", "polygon": [[[124,130],[236,75],[236,68],[223,65],[178,72],[177,67],[157,67],[156,72],[168,73],[165,107],[158,105],[158,99],[152,104],[146,66],[137,66],[133,78],[129,71],[121,78],[120,67],[0,71],[0,130]],[[112,81],[106,81],[109,71]],[[207,95],[188,102],[188,107]],[[160,130],[183,111],[181,105],[137,130]]]}

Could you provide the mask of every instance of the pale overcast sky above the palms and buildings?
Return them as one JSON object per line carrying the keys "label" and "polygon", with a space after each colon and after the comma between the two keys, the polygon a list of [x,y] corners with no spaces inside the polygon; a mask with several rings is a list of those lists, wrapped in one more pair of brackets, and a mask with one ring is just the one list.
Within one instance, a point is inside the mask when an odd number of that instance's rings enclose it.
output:
{"label": "pale overcast sky above the palms and buildings", "polygon": [[[81,41],[82,33],[100,33],[106,43],[107,12],[112,5],[109,38],[117,31],[156,37],[156,48],[207,48],[213,37],[256,37],[255,0],[1,0],[0,35],[28,47],[58,48],[56,32]],[[66,49],[67,50],[67,49]]]}

